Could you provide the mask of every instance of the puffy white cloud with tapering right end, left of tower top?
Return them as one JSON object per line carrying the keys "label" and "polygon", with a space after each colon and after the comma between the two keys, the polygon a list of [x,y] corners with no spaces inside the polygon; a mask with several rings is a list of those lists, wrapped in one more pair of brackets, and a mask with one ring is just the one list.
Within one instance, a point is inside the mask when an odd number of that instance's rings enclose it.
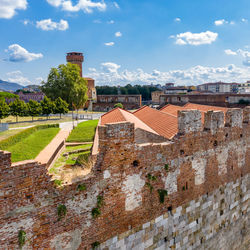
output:
{"label": "puffy white cloud with tapering right end, left of tower top", "polygon": [[6,52],[9,53],[8,60],[11,62],[30,62],[43,57],[41,53],[30,53],[18,44],[10,45]]}

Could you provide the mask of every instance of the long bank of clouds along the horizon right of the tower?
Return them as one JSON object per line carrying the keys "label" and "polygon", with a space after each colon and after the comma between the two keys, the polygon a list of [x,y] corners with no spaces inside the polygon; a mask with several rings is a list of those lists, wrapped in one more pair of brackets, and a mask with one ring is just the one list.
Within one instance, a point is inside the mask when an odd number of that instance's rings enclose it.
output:
{"label": "long bank of clouds along the horizon right of the tower", "polygon": [[145,72],[142,69],[134,71],[121,70],[121,66],[114,62],[105,62],[99,69],[91,68],[89,76],[98,85],[126,85],[126,84],[165,84],[175,82],[180,85],[198,85],[205,82],[225,81],[244,82],[249,80],[250,68],[236,67],[230,64],[224,67],[195,66],[184,70]]}

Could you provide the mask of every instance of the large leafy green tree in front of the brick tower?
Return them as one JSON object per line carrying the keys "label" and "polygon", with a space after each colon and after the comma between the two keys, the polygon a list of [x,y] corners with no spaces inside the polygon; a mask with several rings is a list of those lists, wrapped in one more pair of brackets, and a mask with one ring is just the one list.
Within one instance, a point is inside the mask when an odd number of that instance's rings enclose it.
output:
{"label": "large leafy green tree in front of the brick tower", "polygon": [[47,82],[42,83],[42,91],[53,101],[61,97],[71,107],[75,101],[76,93],[78,99],[82,98],[77,103],[82,104],[87,101],[87,81],[80,76],[80,67],[71,63],[61,64],[58,68],[52,68]]}

